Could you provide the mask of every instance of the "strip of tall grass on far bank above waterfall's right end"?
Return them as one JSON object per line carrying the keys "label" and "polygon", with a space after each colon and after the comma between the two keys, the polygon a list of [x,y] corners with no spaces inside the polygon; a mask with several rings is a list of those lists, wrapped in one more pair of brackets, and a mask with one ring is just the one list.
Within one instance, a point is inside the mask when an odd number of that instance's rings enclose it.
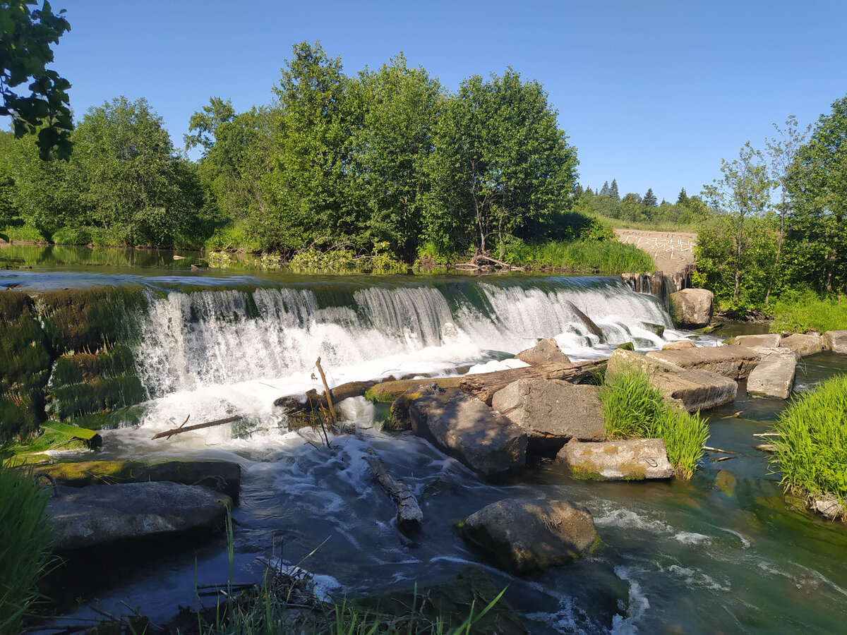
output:
{"label": "strip of tall grass on far bank above waterfall's right end", "polygon": [[573,273],[649,273],[656,270],[650,254],[614,240],[550,240],[540,244],[516,240],[508,246],[505,258],[513,265]]}

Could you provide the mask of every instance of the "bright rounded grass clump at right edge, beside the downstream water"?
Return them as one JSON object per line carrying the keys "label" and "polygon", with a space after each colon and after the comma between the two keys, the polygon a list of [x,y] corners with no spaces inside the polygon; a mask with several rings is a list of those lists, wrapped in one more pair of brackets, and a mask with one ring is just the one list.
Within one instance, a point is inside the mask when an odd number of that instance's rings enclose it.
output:
{"label": "bright rounded grass clump at right edge, beside the downstream water", "polygon": [[847,375],[830,378],[783,410],[774,425],[783,488],[805,499],[847,501]]}

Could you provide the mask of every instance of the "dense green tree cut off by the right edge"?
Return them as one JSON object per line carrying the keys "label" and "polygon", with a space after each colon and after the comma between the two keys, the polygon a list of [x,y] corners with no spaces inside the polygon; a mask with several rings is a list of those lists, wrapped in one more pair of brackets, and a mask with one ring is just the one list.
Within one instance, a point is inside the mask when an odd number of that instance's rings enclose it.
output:
{"label": "dense green tree cut off by the right edge", "polygon": [[789,170],[794,279],[818,290],[847,290],[847,96],[817,120]]}

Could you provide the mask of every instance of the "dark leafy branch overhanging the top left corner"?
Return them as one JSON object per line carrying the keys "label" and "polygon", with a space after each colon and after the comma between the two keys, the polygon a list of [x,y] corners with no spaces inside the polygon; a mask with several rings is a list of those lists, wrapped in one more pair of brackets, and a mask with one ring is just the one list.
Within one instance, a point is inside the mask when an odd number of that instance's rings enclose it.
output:
{"label": "dark leafy branch overhanging the top left corner", "polygon": [[[71,152],[71,119],[68,80],[54,70],[51,44],[70,30],[64,9],[53,14],[50,3],[30,10],[34,0],[17,0],[0,5],[0,116],[12,118],[15,137],[37,134],[42,159],[68,158]],[[31,80],[31,81],[30,81]],[[19,95],[18,86],[30,81],[29,96]]]}

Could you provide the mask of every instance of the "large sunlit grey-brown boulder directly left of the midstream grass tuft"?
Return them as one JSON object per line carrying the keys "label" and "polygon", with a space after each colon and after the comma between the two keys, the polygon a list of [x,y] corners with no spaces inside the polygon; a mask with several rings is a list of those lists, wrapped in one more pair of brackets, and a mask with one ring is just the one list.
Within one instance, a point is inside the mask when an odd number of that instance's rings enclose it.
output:
{"label": "large sunlit grey-brown boulder directly left of the midstream grass tuft", "polygon": [[552,456],[568,439],[604,438],[598,390],[557,379],[521,379],[495,392],[491,407],[526,430],[530,452]]}

